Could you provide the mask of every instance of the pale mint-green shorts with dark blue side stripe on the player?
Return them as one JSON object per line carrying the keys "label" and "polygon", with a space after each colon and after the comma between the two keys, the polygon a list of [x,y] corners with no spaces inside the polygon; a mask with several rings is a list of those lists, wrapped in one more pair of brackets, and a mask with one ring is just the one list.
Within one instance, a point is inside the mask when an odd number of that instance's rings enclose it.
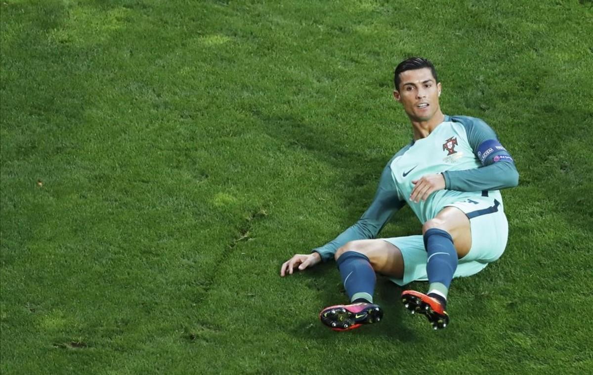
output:
{"label": "pale mint-green shorts with dark blue side stripe on the player", "polygon": [[[456,202],[454,206],[463,211],[470,219],[471,249],[459,260],[453,277],[464,277],[477,274],[488,263],[500,258],[505,251],[509,227],[505,212],[496,199],[479,197],[470,202]],[[390,278],[398,285],[406,285],[412,281],[426,281],[426,250],[422,236],[394,237],[382,239],[397,246],[404,259],[403,279]]]}

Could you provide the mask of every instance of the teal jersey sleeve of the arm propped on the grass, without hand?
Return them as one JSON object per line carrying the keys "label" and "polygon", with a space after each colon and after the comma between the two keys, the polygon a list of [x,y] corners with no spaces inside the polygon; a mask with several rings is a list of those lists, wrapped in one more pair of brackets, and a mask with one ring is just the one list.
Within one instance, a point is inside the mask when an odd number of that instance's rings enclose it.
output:
{"label": "teal jersey sleeve of the arm propped on the grass, without hand", "polygon": [[371,205],[366,209],[362,217],[354,225],[347,228],[336,239],[324,244],[324,246],[313,249],[313,252],[319,253],[324,262],[333,258],[336,250],[348,241],[374,239],[381,231],[381,228],[387,223],[391,215],[403,207],[406,202],[400,201],[397,195],[397,187],[391,176],[391,161],[398,155],[403,154],[410,145],[402,148],[387,163],[387,166],[381,173],[379,187]]}

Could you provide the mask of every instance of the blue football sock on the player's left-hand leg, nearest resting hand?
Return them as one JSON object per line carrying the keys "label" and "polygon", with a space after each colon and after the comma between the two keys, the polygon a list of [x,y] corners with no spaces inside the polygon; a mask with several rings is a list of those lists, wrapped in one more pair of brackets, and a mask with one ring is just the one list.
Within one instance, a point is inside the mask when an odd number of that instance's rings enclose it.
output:
{"label": "blue football sock on the player's left-hand leg, nearest resting hand", "polygon": [[350,301],[372,303],[377,275],[366,255],[345,252],[337,259],[337,265]]}

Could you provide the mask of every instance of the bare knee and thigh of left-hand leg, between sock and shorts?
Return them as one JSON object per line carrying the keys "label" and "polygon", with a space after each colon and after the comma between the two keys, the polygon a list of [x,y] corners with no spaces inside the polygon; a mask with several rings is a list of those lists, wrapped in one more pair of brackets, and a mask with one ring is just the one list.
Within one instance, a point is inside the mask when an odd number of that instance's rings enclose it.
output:
{"label": "bare knee and thigh of left-hand leg, between sock and shorts", "polygon": [[375,272],[382,275],[401,277],[404,262],[397,246],[384,240],[356,240],[346,243],[336,252],[336,260],[348,251],[366,255]]}

